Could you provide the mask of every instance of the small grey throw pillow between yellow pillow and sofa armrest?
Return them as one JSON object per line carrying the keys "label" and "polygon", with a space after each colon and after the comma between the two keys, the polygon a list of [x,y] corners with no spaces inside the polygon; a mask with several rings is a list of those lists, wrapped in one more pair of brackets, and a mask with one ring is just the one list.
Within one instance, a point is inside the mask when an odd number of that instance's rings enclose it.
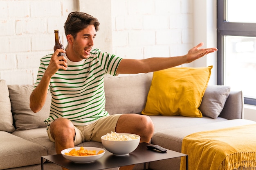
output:
{"label": "small grey throw pillow between yellow pillow and sofa armrest", "polygon": [[202,115],[216,119],[225,105],[229,92],[229,86],[208,85],[198,108]]}

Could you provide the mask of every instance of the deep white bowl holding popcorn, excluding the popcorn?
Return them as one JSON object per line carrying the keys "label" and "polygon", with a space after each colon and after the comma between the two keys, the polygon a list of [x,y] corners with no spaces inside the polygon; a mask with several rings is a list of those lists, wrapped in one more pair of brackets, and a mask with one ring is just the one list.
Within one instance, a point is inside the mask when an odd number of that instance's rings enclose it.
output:
{"label": "deep white bowl holding popcorn, excluding the popcorn", "polygon": [[128,135],[128,136],[134,135],[135,137],[138,137],[138,138],[134,140],[127,140],[127,141],[114,141],[114,140],[104,139],[106,135],[103,135],[101,137],[101,143],[106,148],[106,150],[111,152],[113,155],[117,155],[117,156],[129,155],[129,153],[131,153],[138,147],[139,141],[140,141],[139,135],[135,135],[131,133],[119,133],[119,135]]}

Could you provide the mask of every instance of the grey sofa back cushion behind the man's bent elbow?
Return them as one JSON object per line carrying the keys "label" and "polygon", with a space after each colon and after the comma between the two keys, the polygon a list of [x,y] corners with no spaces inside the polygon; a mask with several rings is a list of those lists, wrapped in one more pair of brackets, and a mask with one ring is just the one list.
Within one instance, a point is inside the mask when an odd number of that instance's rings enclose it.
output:
{"label": "grey sofa back cushion behind the man's bent elbow", "polygon": [[46,127],[44,120],[49,117],[51,94],[48,93],[44,107],[38,113],[34,113],[29,107],[33,85],[8,85],[8,88],[16,130]]}

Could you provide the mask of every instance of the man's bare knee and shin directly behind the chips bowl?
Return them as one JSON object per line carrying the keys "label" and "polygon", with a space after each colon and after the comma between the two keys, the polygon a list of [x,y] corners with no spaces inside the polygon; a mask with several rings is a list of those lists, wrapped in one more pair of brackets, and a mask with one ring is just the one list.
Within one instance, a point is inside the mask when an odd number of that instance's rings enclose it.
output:
{"label": "man's bare knee and shin directly behind the chips bowl", "polygon": [[[74,147],[75,130],[70,120],[58,118],[50,126],[52,138],[55,140],[55,150],[61,154],[61,150]],[[62,168],[67,170],[66,168]]]}

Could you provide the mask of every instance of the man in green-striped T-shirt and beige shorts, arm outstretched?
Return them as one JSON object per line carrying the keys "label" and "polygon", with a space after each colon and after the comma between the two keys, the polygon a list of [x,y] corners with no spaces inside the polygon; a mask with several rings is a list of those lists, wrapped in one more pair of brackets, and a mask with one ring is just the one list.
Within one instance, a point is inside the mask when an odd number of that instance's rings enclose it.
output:
{"label": "man in green-striped T-shirt and beige shorts, arm outstretched", "polygon": [[[40,111],[48,90],[52,103],[47,132],[55,142],[56,153],[85,141],[101,142],[106,133],[134,133],[141,142],[150,142],[154,126],[148,116],[115,114],[105,111],[104,74],[137,74],[154,72],[189,63],[216,51],[216,48],[198,49],[200,43],[179,57],[122,59],[115,55],[93,50],[99,21],[82,12],[72,12],[64,25],[67,48],[41,59],[37,80],[30,96],[30,108]],[[64,56],[57,57],[64,52]],[[132,166],[121,169],[132,169]]]}

